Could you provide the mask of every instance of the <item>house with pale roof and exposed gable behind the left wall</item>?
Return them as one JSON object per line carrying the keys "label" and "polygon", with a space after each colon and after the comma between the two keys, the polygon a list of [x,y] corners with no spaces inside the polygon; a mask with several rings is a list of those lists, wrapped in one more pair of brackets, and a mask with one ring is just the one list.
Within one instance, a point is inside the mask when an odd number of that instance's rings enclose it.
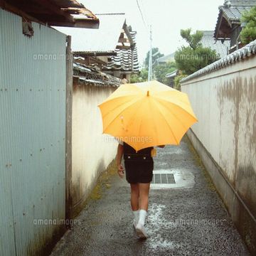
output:
{"label": "house with pale roof and exposed gable behind the left wall", "polygon": [[136,32],[127,26],[124,14],[95,14],[97,31],[57,28],[72,36],[72,50],[79,63],[129,81],[139,71]]}

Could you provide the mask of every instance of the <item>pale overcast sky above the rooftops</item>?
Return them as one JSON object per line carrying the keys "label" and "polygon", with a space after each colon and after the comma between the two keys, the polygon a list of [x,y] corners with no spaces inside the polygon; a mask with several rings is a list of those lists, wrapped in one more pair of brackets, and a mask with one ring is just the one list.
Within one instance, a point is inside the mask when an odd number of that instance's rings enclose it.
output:
{"label": "pale overcast sky above the rooftops", "polygon": [[182,28],[214,30],[218,18],[218,6],[225,0],[80,0],[94,14],[124,12],[127,25],[137,31],[137,48],[142,63],[149,50],[149,32],[152,25],[153,47],[165,55],[174,53],[186,44],[181,36]]}

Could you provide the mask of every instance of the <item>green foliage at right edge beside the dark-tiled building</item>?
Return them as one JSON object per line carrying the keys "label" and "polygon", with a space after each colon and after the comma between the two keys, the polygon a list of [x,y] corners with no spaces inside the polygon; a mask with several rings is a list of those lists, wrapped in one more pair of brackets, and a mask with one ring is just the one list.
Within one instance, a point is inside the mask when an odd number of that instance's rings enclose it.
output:
{"label": "green foliage at right edge beside the dark-tiled building", "polygon": [[250,43],[256,39],[256,6],[250,11],[245,11],[242,14],[241,21],[246,23],[245,28],[242,28],[241,41],[242,43]]}

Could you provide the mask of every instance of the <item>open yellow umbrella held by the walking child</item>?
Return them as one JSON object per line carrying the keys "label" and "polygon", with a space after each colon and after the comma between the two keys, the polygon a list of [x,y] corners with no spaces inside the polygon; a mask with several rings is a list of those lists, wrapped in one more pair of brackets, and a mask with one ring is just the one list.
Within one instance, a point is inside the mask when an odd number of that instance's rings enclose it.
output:
{"label": "open yellow umbrella held by the walking child", "polygon": [[186,93],[157,81],[121,85],[100,105],[103,133],[139,151],[178,145],[196,115]]}

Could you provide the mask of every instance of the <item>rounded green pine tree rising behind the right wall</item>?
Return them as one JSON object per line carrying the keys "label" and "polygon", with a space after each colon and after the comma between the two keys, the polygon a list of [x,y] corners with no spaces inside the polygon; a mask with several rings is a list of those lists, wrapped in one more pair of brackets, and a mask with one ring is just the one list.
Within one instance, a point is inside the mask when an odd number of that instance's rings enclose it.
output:
{"label": "rounded green pine tree rising behind the right wall", "polygon": [[191,35],[191,28],[181,30],[181,36],[187,41],[189,46],[181,46],[175,54],[175,60],[178,70],[185,75],[200,70],[219,59],[215,50],[204,48],[201,39],[203,33],[197,31]]}

